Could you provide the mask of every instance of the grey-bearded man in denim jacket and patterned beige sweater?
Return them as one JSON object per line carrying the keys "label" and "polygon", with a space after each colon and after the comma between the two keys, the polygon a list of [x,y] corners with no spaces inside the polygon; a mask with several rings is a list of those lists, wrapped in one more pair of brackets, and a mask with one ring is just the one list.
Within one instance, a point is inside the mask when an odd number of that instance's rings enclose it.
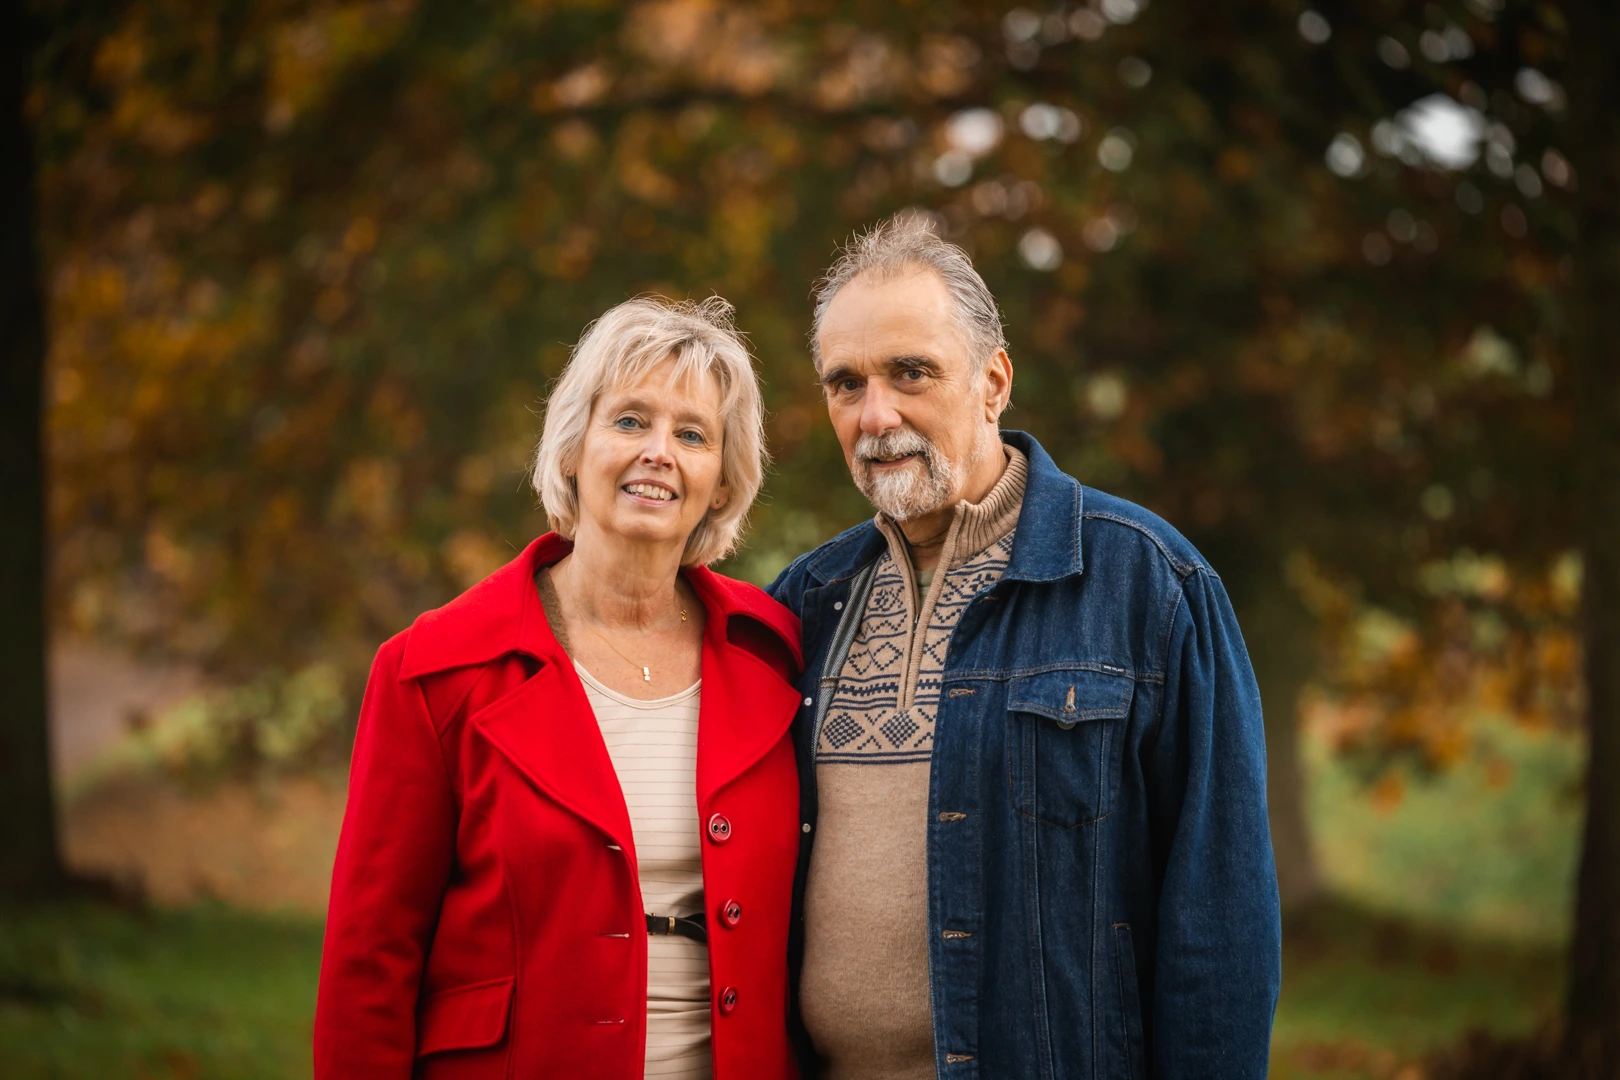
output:
{"label": "grey-bearded man in denim jacket and patterned beige sweater", "polygon": [[1220,578],[998,429],[995,298],[925,219],[842,251],[813,351],[878,513],[771,586],[807,661],[805,1074],[1260,1080],[1277,874]]}

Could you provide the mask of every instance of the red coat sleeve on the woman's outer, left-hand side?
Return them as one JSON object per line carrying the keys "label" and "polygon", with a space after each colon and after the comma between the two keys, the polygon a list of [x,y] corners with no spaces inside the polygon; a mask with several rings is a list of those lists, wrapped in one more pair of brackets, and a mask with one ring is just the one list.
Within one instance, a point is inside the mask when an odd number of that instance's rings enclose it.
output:
{"label": "red coat sleeve on the woman's outer, left-hand side", "polygon": [[450,874],[455,800],[405,635],[382,646],[360,708],[332,868],[314,1015],[316,1080],[408,1080],[416,996]]}

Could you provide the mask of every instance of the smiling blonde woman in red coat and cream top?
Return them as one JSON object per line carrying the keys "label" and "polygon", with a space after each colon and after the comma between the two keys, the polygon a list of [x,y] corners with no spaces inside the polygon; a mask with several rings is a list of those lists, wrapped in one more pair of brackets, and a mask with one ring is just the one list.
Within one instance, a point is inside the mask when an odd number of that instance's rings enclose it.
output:
{"label": "smiling blonde woman in red coat and cream top", "polygon": [[799,627],[705,567],[763,465],[729,304],[586,330],[535,461],[556,531],[373,665],[318,1080],[794,1075]]}

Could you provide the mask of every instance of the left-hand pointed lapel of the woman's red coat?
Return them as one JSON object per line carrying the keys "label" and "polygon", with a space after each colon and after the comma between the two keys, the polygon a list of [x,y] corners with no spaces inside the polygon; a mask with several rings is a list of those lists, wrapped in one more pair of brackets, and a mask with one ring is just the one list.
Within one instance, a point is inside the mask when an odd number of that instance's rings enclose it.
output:
{"label": "left-hand pointed lapel of the woman's red coat", "polygon": [[633,855],[619,774],[572,667],[544,664],[471,722],[535,787]]}

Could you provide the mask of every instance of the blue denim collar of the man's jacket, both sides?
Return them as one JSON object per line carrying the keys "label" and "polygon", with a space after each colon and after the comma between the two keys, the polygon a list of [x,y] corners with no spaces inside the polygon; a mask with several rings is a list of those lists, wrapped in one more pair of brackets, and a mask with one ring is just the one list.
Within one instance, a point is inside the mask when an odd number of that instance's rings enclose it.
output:
{"label": "blue denim collar of the man's jacket, both sides", "polygon": [[[1034,436],[1003,431],[1001,440],[1017,447],[1029,458],[1024,483],[1024,507],[1042,507],[1042,513],[1021,515],[1013,539],[1013,562],[1001,575],[1004,581],[1058,581],[1081,573],[1081,507],[1084,487],[1066,476]],[[810,573],[823,585],[854,576],[886,547],[883,534],[872,521],[849,529],[826,546],[810,563]]]}

